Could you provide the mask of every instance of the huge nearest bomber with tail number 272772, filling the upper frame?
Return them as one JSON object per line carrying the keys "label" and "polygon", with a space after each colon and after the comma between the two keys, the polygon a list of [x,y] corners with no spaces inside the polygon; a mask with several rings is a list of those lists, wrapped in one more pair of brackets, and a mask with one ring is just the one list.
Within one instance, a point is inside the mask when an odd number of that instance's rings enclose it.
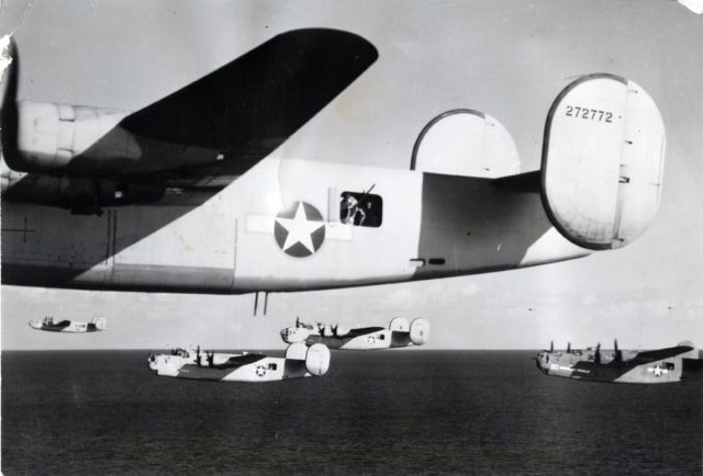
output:
{"label": "huge nearest bomber with tail number 272772, filling the upper frame", "polygon": [[393,58],[328,29],[239,50],[138,111],[18,100],[13,50],[3,284],[237,294],[459,276],[621,248],[658,208],[663,122],[623,77],[555,90],[539,170],[465,104],[419,112],[402,170],[279,147],[347,89],[384,91],[365,71]]}

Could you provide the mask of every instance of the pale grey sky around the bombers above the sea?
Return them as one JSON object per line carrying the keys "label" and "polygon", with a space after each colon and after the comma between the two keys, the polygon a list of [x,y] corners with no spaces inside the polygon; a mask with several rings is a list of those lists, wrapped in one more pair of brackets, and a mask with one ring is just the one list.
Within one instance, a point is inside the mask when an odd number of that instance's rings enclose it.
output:
{"label": "pale grey sky around the bombers above the sea", "polygon": [[[22,3],[3,2],[0,32]],[[673,1],[36,1],[15,39],[19,98],[136,110],[274,35],[327,26],[357,33],[379,60],[292,136],[283,157],[409,167],[437,113],[469,107],[513,135],[538,168],[546,113],[574,77],[612,72],[654,98],[667,131],[662,203],[632,246],[533,269],[353,290],[254,296],[2,287],[3,349],[283,348],[294,321],[432,324],[427,348],[535,349],[703,343],[703,18]],[[87,320],[97,335],[30,329],[31,318]]]}

